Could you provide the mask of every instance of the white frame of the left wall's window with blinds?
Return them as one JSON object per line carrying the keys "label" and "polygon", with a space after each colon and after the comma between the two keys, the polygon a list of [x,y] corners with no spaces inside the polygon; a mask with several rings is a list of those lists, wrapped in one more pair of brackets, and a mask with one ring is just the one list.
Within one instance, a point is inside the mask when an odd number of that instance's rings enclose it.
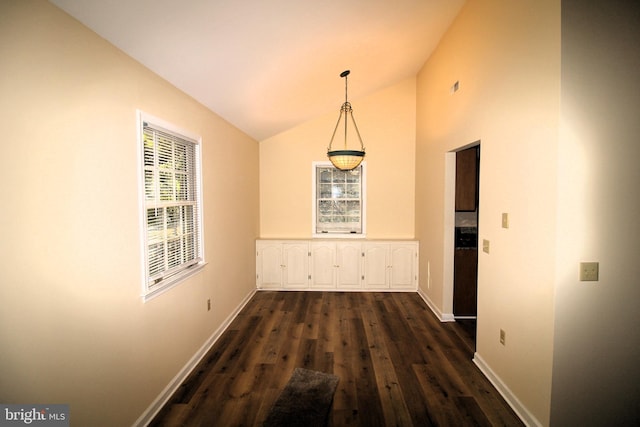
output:
{"label": "white frame of the left wall's window with blinds", "polygon": [[[192,173],[194,175],[194,181],[191,183],[188,188],[189,191],[195,191],[193,196],[193,200],[190,200],[193,206],[193,216],[194,222],[193,227],[194,231],[194,263],[192,264],[183,264],[177,266],[175,270],[173,270],[166,277],[162,277],[160,279],[156,279],[155,283],[151,280],[150,268],[149,268],[149,228],[147,226],[147,210],[150,206],[155,206],[158,209],[160,208],[169,208],[169,207],[179,207],[185,205],[184,203],[180,203],[178,200],[173,200],[175,203],[171,202],[163,202],[159,199],[160,189],[156,188],[156,197],[154,200],[147,200],[146,198],[146,185],[145,185],[145,137],[144,137],[144,128],[145,123],[149,124],[151,128],[162,132],[164,134],[171,135],[173,137],[178,138],[184,142],[193,144],[193,171],[188,173]],[[142,289],[141,296],[144,302],[151,300],[152,298],[168,291],[174,286],[178,285],[188,277],[194,275],[199,272],[206,264],[205,262],[205,252],[204,252],[204,224],[203,224],[203,204],[202,204],[202,138],[198,135],[194,135],[191,132],[180,129],[176,125],[169,123],[160,118],[154,117],[144,111],[137,110],[137,144],[138,144],[138,169],[139,169],[139,189],[138,189],[138,199],[139,199],[139,211],[140,211],[140,248],[141,248],[141,264],[142,264]],[[174,159],[175,160],[175,159]],[[175,173],[176,169],[172,169]],[[155,180],[155,178],[154,178]],[[154,183],[156,183],[154,181]],[[158,180],[157,185],[160,185],[160,181]],[[191,197],[189,197],[191,199]],[[164,225],[163,225],[164,226]],[[168,237],[165,235],[163,237],[164,240],[167,240]],[[165,254],[165,259],[169,259],[170,255]],[[166,271],[166,270],[165,270]]]}

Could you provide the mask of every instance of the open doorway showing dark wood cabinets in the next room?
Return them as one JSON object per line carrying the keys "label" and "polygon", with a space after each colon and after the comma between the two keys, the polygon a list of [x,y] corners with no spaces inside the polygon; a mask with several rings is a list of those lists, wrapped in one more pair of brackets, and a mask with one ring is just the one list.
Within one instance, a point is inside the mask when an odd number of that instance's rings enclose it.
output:
{"label": "open doorway showing dark wood cabinets in the next room", "polygon": [[453,316],[456,321],[475,320],[478,295],[479,143],[456,152],[455,176]]}

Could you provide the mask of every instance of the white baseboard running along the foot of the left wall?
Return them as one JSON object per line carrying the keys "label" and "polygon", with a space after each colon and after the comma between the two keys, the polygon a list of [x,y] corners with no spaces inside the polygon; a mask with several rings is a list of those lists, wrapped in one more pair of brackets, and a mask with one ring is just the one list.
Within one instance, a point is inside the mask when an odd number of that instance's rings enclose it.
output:
{"label": "white baseboard running along the foot of the left wall", "polygon": [[191,371],[198,366],[198,363],[206,356],[211,347],[218,341],[218,338],[222,336],[222,333],[229,327],[231,322],[236,318],[238,313],[249,302],[251,297],[256,293],[256,289],[253,289],[243,300],[240,305],[225,319],[218,329],[209,337],[209,339],[200,347],[200,349],[193,355],[193,357],[187,362],[187,364],[178,372],[178,374],[167,384],[162,392],[156,397],[156,399],[149,405],[149,407],[140,415],[140,417],[133,423],[134,427],[147,426],[153,418],[160,412],[162,407],[169,401],[173,393],[176,392],[180,384],[187,379]]}

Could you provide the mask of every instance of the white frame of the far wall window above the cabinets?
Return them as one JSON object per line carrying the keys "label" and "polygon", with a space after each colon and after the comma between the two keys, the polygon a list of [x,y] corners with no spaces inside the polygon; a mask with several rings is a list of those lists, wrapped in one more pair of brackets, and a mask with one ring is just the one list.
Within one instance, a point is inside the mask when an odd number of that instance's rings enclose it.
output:
{"label": "white frame of the far wall window above the cabinets", "polygon": [[[317,228],[317,209],[318,209],[318,192],[317,192],[317,173],[318,168],[335,168],[330,161],[315,161],[311,165],[311,235],[313,238],[320,239],[365,239],[367,237],[367,162],[360,163],[360,232],[344,233],[344,232],[320,232]],[[336,169],[337,170],[337,169]],[[347,172],[348,173],[348,172]]]}

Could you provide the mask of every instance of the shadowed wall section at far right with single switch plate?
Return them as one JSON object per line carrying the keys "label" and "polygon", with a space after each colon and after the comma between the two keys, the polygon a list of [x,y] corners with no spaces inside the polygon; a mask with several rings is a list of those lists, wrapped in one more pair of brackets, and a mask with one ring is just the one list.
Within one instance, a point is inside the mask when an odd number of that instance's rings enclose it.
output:
{"label": "shadowed wall section at far right with single switch plate", "polygon": [[[640,425],[638,3],[562,1],[551,424]],[[581,261],[600,263],[579,282]]]}

